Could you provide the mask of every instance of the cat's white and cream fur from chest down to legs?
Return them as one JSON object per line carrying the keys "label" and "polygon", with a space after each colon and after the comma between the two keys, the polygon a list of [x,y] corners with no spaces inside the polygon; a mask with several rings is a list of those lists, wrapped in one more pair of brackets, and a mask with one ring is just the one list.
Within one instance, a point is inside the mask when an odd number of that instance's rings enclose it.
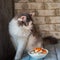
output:
{"label": "cat's white and cream fur from chest down to legs", "polygon": [[42,41],[36,42],[36,37],[31,34],[31,23],[32,21],[30,21],[29,26],[18,26],[18,20],[15,18],[9,22],[9,33],[16,49],[14,60],[20,59],[24,50],[29,51],[35,47],[41,47]]}

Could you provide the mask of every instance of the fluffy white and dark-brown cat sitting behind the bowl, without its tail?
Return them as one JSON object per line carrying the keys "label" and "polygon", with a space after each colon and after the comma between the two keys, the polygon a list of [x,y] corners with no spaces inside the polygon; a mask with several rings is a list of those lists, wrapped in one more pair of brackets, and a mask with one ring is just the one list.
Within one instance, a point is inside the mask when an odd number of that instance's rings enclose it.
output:
{"label": "fluffy white and dark-brown cat sitting behind the bowl, without its tail", "polygon": [[43,47],[43,40],[33,23],[33,13],[22,13],[9,22],[9,34],[16,49],[14,60],[20,60],[23,51]]}

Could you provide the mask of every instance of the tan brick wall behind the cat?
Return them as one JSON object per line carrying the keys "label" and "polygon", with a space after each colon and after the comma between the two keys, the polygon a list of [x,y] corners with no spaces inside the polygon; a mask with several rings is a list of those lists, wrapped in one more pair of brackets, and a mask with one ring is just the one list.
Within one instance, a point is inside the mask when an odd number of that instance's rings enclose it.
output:
{"label": "tan brick wall behind the cat", "polygon": [[44,36],[60,38],[60,0],[15,0],[15,14],[35,12],[34,23]]}

